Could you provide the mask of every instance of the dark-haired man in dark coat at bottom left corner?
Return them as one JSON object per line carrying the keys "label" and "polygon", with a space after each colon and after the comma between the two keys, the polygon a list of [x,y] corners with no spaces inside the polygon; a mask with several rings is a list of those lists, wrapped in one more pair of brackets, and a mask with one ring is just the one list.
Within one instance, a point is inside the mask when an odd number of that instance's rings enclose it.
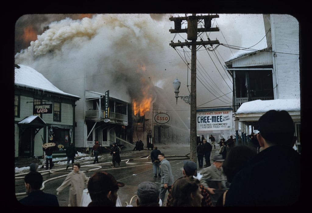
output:
{"label": "dark-haired man in dark coat at bottom left corner", "polygon": [[40,190],[42,185],[42,175],[39,172],[29,172],[24,177],[27,197],[19,202],[24,206],[59,206],[57,197],[44,193]]}

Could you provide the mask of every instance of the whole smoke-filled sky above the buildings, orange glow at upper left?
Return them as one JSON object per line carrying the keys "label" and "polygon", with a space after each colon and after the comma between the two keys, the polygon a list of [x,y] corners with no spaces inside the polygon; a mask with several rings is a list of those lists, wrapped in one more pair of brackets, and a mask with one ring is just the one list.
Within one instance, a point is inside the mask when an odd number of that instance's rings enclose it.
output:
{"label": "whole smoke-filled sky above the buildings, orange glow at upper left", "polygon": [[[204,41],[209,36],[222,44],[250,47],[260,41],[252,48],[267,47],[262,14],[218,15],[212,20],[212,27],[217,26],[220,31],[203,33]],[[175,78],[181,82],[179,95],[189,94],[191,66],[187,63],[191,63],[191,54],[187,47],[175,50],[169,46],[170,41],[184,42],[187,37],[186,33],[169,32],[174,28],[174,22],[169,21],[171,16],[185,14],[23,15],[15,25],[15,63],[38,72],[64,70],[62,76],[49,79],[56,86],[60,79],[72,78],[77,69],[87,70],[87,78],[95,82],[90,90],[103,92],[100,82],[105,81],[105,86],[113,90],[123,88],[116,93],[120,99],[135,99],[146,91],[147,95],[152,94],[152,86],[157,86],[167,94],[166,101],[175,104]],[[49,29],[43,32],[45,26]],[[232,105],[232,77],[223,65],[242,52],[250,51],[221,45],[216,51],[202,46],[198,49],[197,107]],[[175,110],[183,109],[189,109],[189,105],[178,99]]]}

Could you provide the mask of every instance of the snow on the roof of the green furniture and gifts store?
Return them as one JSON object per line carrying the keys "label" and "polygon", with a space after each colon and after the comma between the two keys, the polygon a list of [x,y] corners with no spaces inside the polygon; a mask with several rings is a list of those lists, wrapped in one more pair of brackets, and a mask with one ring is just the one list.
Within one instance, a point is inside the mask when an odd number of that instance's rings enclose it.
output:
{"label": "snow on the roof of the green furniture and gifts store", "polygon": [[62,90],[59,90],[56,86],[54,86],[49,80],[47,80],[41,73],[37,72],[35,69],[21,64],[19,64],[19,66],[20,68],[15,67],[16,85],[80,98],[79,96],[65,93]]}

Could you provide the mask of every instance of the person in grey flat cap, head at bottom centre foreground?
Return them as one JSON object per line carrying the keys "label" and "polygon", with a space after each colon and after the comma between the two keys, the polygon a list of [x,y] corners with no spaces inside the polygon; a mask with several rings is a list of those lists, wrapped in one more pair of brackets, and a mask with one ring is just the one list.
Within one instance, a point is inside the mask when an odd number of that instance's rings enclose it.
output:
{"label": "person in grey flat cap, head at bottom centre foreground", "polygon": [[156,183],[143,182],[138,186],[137,206],[158,206],[159,207],[159,187]]}

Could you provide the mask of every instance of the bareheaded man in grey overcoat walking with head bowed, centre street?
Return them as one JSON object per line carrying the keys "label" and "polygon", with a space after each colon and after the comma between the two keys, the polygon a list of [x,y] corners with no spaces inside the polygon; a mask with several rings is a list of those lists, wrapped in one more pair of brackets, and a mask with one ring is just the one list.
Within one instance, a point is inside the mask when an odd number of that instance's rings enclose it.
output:
{"label": "bareheaded man in grey overcoat walking with head bowed, centre street", "polygon": [[171,165],[169,161],[165,158],[163,153],[158,155],[158,160],[160,161],[160,174],[161,174],[161,182],[159,189],[159,198],[164,203],[166,191],[171,189],[171,186],[174,182]]}

